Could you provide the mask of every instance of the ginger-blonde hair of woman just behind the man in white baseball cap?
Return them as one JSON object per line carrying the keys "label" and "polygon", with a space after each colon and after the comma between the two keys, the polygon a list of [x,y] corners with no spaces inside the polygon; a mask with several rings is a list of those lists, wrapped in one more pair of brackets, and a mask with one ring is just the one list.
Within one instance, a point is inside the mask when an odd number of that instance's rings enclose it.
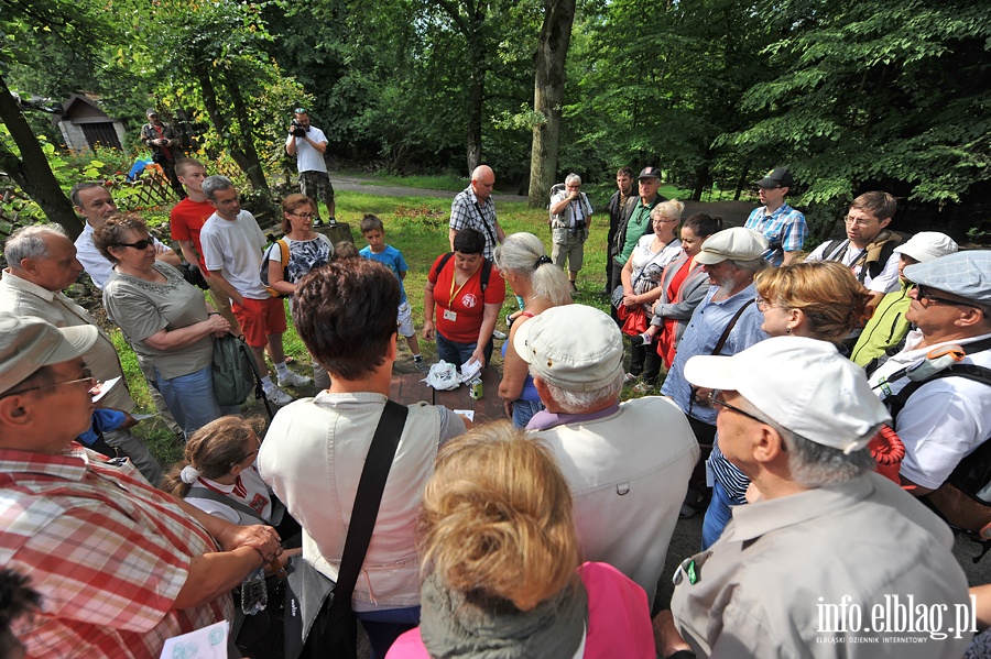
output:
{"label": "ginger-blonde hair of woman just behind the man in white baseball cap", "polygon": [[801,309],[814,338],[840,342],[863,319],[871,293],[837,261],[772,267],[754,279],[758,295],[784,309]]}

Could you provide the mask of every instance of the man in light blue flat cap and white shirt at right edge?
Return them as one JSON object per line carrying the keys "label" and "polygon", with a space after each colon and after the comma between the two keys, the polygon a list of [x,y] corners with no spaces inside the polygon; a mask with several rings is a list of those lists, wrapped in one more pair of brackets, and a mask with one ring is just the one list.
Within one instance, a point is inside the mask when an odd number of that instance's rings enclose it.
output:
{"label": "man in light blue flat cap and white shirt at right edge", "polygon": [[[991,437],[991,251],[910,265],[904,276],[915,285],[905,319],[917,329],[869,378],[878,396],[901,406],[892,416],[905,444],[902,481],[924,496],[941,490]],[[938,369],[950,362],[978,376],[982,367],[989,381]],[[945,376],[929,380],[926,372]]]}

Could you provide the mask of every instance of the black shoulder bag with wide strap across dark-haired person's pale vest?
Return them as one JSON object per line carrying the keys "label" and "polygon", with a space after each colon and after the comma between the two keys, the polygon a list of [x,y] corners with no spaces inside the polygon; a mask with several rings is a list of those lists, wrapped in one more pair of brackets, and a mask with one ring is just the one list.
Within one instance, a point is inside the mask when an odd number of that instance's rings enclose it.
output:
{"label": "black shoulder bag with wide strap across dark-haired person's pale vest", "polygon": [[358,481],[340,570],[335,583],[302,557],[290,561],[285,590],[285,659],[357,659],[358,623],[351,595],[382,503],[382,492],[410,410],[385,402]]}

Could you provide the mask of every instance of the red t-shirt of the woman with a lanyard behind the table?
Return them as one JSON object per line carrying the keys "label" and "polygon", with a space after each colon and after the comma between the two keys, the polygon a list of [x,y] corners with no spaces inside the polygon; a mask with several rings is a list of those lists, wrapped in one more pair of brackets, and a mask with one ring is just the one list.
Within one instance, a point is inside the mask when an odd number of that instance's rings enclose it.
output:
{"label": "red t-shirt of the woman with a lanyard behind the table", "polygon": [[[427,275],[434,285],[434,304],[437,306],[437,331],[444,334],[448,341],[457,343],[475,343],[478,341],[478,332],[481,329],[486,305],[502,306],[505,299],[505,283],[499,274],[499,268],[492,265],[489,275],[489,284],[486,286],[484,299],[481,293],[481,266],[464,286],[454,286],[455,257],[447,260],[444,270],[437,274],[437,265],[444,254],[437,256]],[[456,320],[448,320],[444,311],[450,310],[457,315]],[[429,311],[427,311],[429,312]]]}

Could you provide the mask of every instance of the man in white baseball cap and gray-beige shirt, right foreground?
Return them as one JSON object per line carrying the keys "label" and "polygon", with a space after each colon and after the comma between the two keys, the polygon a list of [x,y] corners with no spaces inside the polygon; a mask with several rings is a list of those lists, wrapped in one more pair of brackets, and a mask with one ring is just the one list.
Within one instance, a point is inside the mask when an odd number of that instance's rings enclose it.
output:
{"label": "man in white baseball cap and gray-beige shirt, right foreground", "polygon": [[974,624],[952,534],[873,472],[889,415],[863,371],[826,341],[777,337],[694,356],[685,376],[712,392],[753,501],[675,571],[657,655],[960,657]]}

